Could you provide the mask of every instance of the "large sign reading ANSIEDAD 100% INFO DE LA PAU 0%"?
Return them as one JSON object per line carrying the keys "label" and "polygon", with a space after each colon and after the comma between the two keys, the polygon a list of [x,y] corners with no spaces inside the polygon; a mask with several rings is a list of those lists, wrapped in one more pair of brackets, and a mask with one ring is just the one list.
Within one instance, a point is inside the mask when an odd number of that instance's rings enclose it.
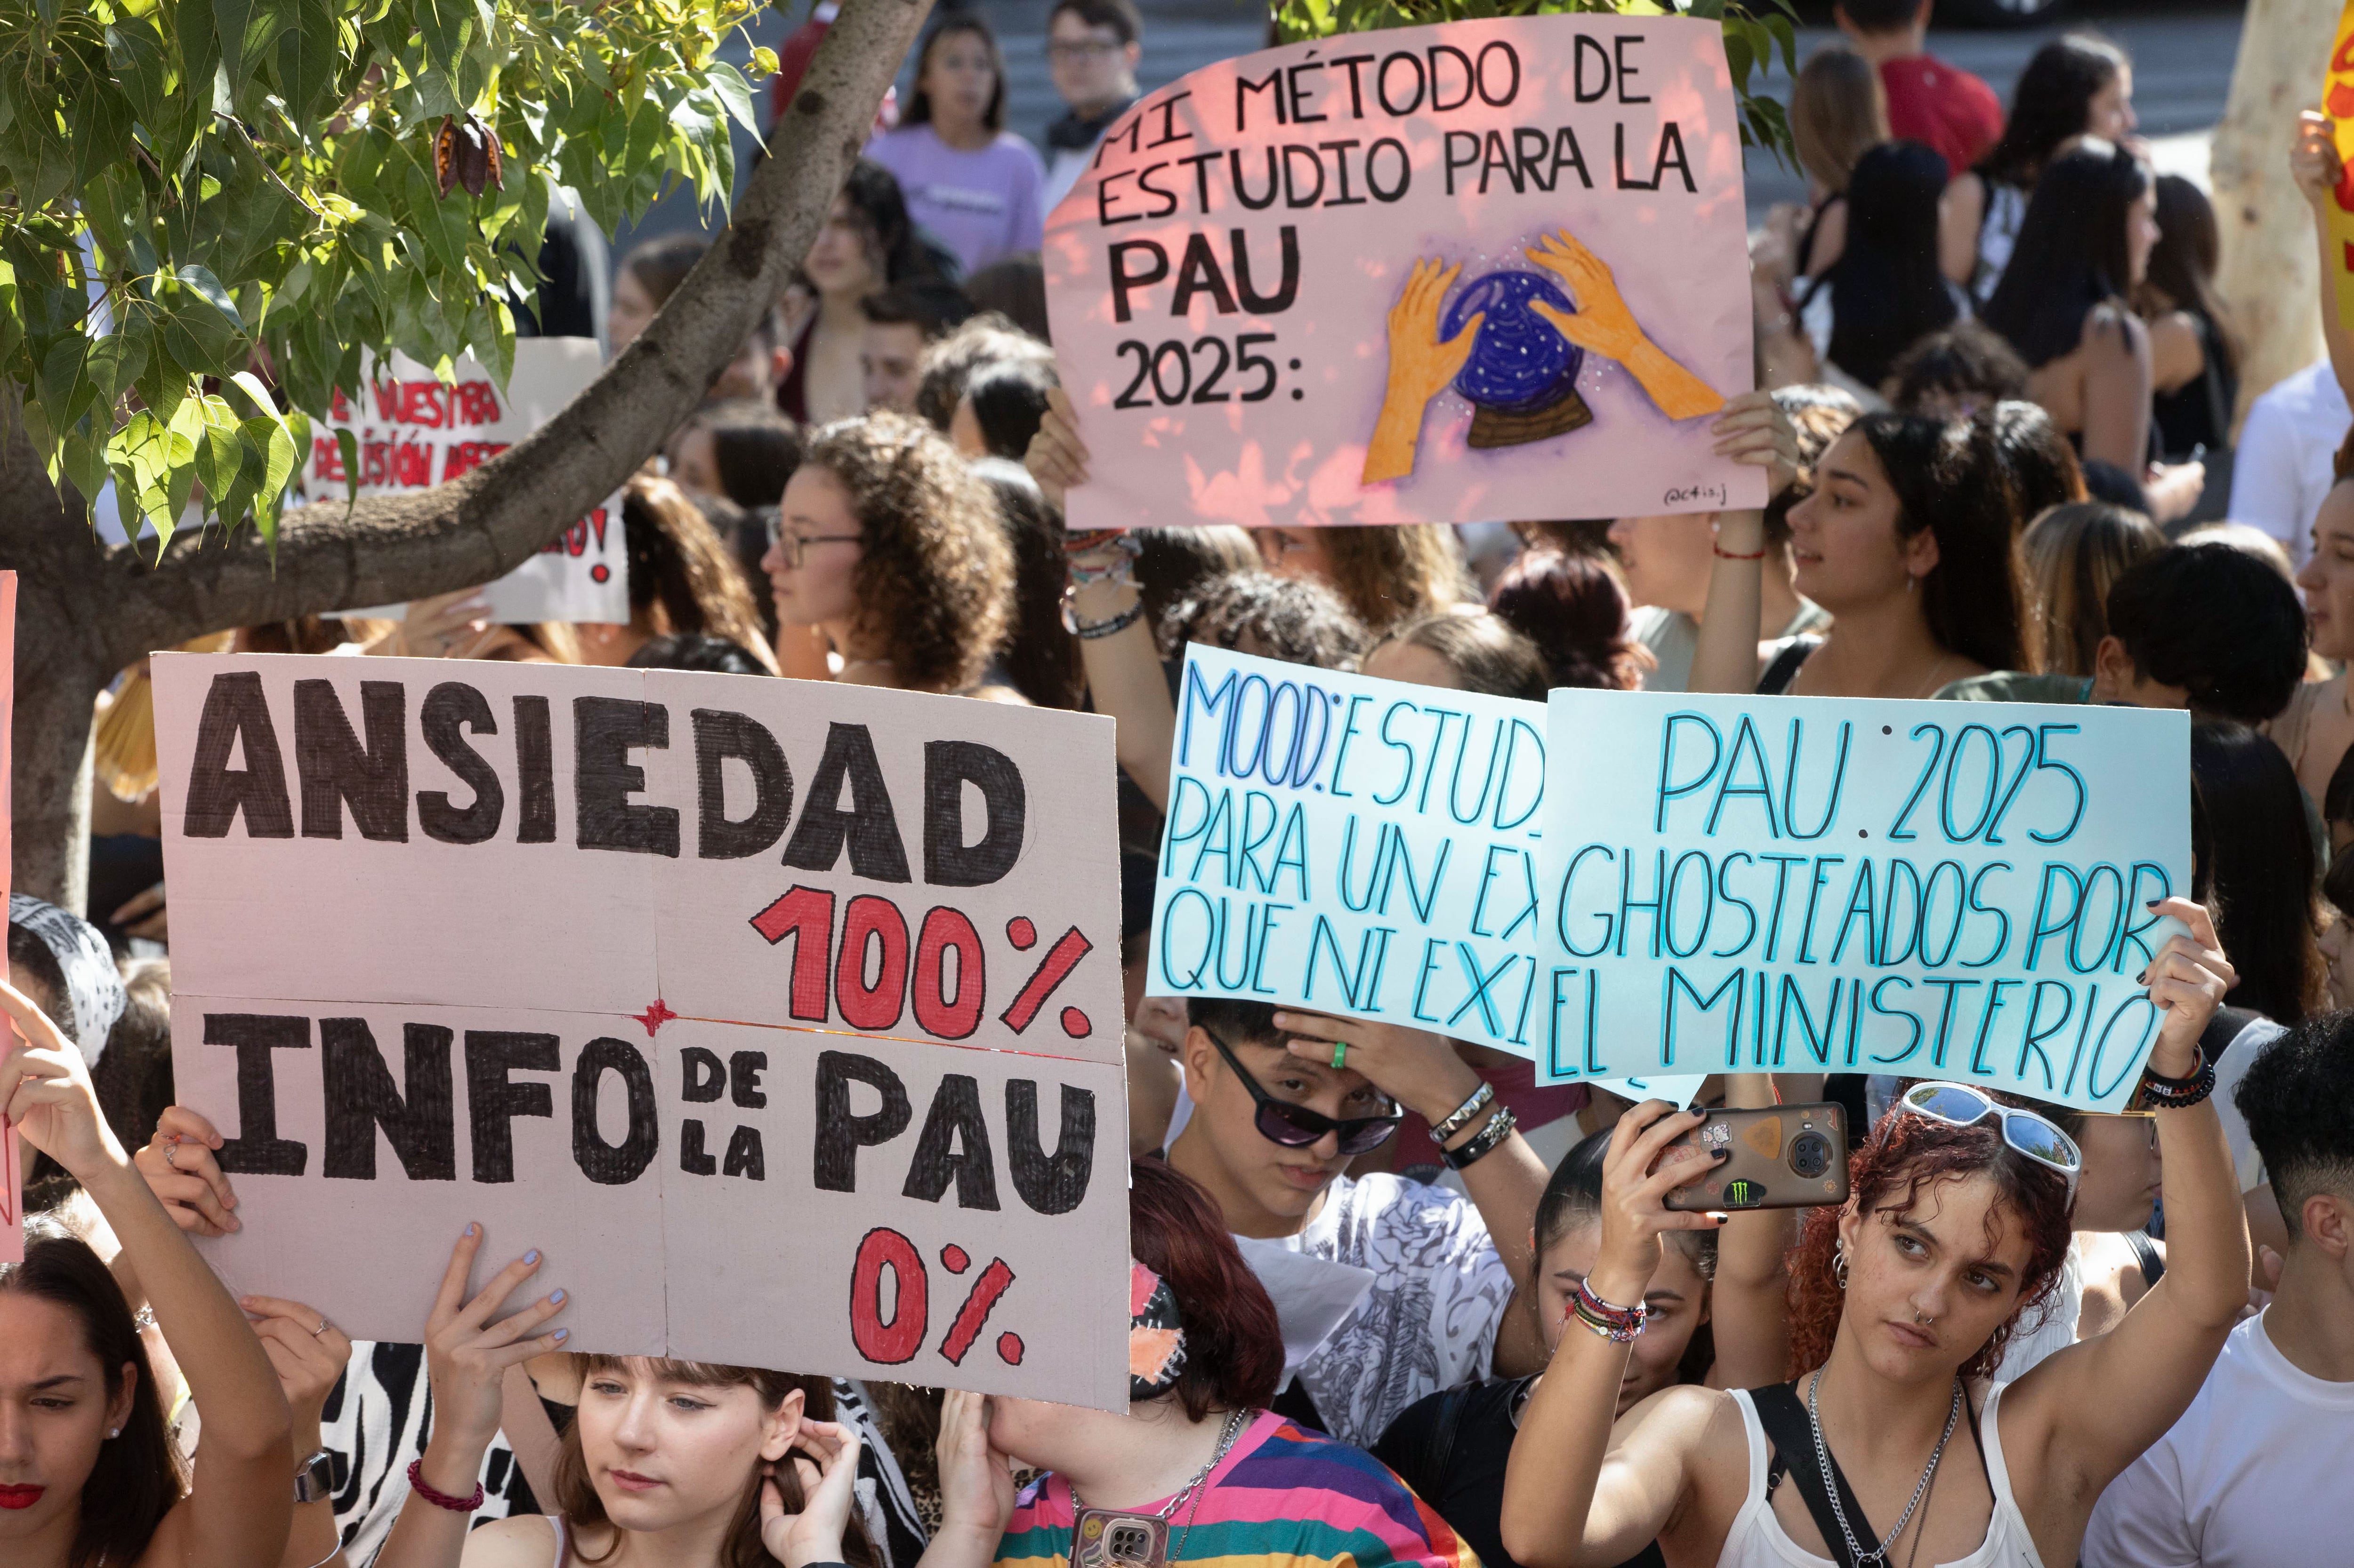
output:
{"label": "large sign reading ANSIEDAD 100% INFO DE LA PAU 0%", "polygon": [[483,1220],[579,1349],[1125,1408],[1109,719],[271,656],[155,715],[238,1288],[414,1338]]}

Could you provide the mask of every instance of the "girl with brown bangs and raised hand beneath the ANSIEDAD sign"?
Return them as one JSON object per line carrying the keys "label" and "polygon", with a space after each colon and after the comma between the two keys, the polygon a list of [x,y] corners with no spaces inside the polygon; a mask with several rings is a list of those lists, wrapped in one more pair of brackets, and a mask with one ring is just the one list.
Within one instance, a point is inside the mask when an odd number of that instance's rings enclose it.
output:
{"label": "girl with brown bangs and raised hand beneath the ANSIEDAD sign", "polygon": [[537,1251],[466,1298],[480,1246],[468,1225],[426,1319],[433,1434],[377,1568],[873,1568],[859,1439],[833,1422],[831,1380],[657,1356],[579,1356],[556,1512],[468,1533],[506,1368],[567,1338],[539,1333],[563,1291],[497,1316],[539,1272]]}

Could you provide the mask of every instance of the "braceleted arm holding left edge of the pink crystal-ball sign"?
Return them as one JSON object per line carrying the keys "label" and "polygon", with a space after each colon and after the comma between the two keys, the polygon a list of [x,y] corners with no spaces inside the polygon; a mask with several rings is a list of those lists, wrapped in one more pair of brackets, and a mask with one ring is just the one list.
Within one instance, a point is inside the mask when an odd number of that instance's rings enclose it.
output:
{"label": "braceleted arm holding left edge of the pink crystal-ball sign", "polygon": [[[1078,440],[1078,411],[1066,390],[1048,393],[1045,418],[1038,421],[1038,435],[1031,437],[1022,461],[1038,480],[1048,505],[1062,517],[1064,496],[1073,484],[1088,482],[1088,444]],[[1144,616],[1144,595],[1128,578],[1104,578],[1073,585],[1069,604],[1078,625],[1088,693],[1095,698],[1095,710],[1109,712],[1118,724],[1113,757],[1144,797],[1168,811],[1177,705],[1161,672],[1161,649],[1153,646],[1153,628]]]}

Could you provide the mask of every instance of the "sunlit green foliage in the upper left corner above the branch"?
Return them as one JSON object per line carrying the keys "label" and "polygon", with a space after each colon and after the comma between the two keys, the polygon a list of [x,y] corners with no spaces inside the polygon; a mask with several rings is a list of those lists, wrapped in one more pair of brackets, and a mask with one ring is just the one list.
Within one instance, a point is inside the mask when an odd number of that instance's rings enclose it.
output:
{"label": "sunlit green foliage in the upper left corner above the branch", "polygon": [[200,484],[273,538],[290,409],[363,348],[504,383],[558,186],[607,230],[727,197],[758,127],[718,47],[756,9],[0,0],[0,378],[49,477],[165,538]]}

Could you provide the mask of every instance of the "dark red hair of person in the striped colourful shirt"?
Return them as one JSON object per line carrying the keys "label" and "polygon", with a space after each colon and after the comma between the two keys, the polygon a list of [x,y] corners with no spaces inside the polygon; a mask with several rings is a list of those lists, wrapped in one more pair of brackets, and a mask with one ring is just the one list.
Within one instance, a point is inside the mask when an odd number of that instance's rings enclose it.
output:
{"label": "dark red hair of person in the striped colourful shirt", "polygon": [[1168,1161],[1135,1161],[1128,1251],[1177,1298],[1184,1371],[1175,1394],[1184,1413],[1201,1420],[1210,1410],[1255,1410],[1274,1399],[1283,1380],[1276,1302],[1243,1262],[1210,1194]]}

